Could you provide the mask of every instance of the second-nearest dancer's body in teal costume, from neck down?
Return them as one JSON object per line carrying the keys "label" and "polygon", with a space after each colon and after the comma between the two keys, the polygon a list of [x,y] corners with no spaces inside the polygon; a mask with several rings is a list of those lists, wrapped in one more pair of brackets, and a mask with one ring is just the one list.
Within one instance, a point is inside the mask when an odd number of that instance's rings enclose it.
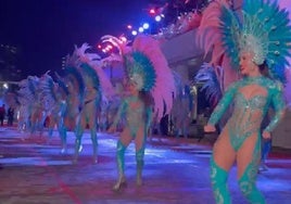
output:
{"label": "second-nearest dancer's body in teal costume, from neck down", "polygon": [[122,132],[121,139],[117,142],[117,167],[118,167],[118,181],[115,189],[118,189],[123,179],[125,179],[124,169],[124,154],[131,140],[136,144],[136,162],[137,162],[137,183],[141,184],[141,176],[143,168],[143,156],[147,140],[147,132],[150,127],[152,115],[151,105],[146,105],[140,97],[131,95],[126,97],[119,106],[113,126],[116,126],[122,117],[125,118],[125,127]]}

